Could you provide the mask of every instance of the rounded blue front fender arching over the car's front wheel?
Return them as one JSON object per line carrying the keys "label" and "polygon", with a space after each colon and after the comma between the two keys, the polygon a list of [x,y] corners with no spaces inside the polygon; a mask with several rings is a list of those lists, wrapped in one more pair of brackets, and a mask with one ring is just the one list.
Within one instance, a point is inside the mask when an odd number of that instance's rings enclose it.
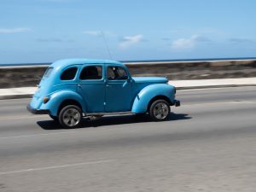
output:
{"label": "rounded blue front fender arching over the car's front wheel", "polygon": [[150,84],[141,90],[132,105],[132,113],[146,113],[148,103],[155,96],[166,96],[171,102],[175,100],[175,87],[171,84]]}

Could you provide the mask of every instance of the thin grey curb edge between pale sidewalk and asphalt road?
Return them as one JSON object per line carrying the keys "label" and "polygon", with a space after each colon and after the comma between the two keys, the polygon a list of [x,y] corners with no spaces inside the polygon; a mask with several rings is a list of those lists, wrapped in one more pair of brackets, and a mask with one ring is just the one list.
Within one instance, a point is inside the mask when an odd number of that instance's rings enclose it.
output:
{"label": "thin grey curb edge between pale sidewalk and asphalt road", "polygon": [[[225,87],[248,87],[256,86],[256,84],[219,84],[219,85],[203,85],[203,86],[179,86],[176,87],[177,90],[197,90],[197,89],[214,89],[214,88],[225,88]],[[14,94],[0,96],[0,100],[4,99],[23,99],[32,98],[33,94]]]}

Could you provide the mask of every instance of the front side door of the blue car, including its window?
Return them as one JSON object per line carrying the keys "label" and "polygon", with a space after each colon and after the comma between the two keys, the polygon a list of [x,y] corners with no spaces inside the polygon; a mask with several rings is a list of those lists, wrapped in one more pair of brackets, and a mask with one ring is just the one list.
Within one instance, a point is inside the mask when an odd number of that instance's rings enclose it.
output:
{"label": "front side door of the blue car, including its window", "polygon": [[108,65],[106,112],[131,111],[131,78],[125,67]]}

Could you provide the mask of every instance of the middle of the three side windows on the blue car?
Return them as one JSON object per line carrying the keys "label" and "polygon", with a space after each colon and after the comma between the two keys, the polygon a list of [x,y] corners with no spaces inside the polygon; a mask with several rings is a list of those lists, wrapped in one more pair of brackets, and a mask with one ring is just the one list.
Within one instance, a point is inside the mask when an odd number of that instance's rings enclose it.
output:
{"label": "middle of the three side windows on the blue car", "polygon": [[80,79],[102,79],[102,66],[84,67],[80,73]]}

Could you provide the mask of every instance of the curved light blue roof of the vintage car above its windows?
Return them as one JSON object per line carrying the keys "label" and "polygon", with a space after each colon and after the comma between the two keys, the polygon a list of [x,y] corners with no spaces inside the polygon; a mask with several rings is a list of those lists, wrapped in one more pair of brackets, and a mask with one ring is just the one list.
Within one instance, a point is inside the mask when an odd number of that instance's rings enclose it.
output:
{"label": "curved light blue roof of the vintage car above its windows", "polygon": [[74,59],[64,59],[53,62],[50,67],[67,67],[74,64],[117,64],[123,65],[119,61],[110,61],[110,60],[95,60],[95,59],[82,59],[82,58],[74,58]]}

